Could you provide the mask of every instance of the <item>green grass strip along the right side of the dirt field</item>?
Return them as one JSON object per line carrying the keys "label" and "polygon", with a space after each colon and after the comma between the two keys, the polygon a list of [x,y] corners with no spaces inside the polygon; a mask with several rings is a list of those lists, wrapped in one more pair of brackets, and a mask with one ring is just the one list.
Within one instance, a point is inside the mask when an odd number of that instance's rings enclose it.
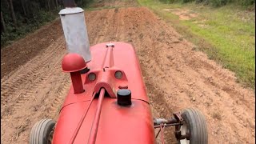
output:
{"label": "green grass strip along the right side of the dirt field", "polygon": [[[255,86],[255,12],[229,5],[219,8],[194,3],[166,4],[157,0],[138,0],[170,22],[186,39],[210,59],[234,71],[243,86]],[[168,10],[189,10],[188,20]]]}

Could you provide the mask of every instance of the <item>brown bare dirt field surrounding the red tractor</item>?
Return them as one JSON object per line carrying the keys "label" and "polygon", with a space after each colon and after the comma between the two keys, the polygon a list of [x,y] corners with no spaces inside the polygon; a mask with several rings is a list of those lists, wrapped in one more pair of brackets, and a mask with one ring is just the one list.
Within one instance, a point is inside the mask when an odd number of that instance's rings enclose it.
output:
{"label": "brown bare dirt field surrounding the red tractor", "polygon": [[[194,107],[206,117],[210,144],[254,143],[254,90],[236,83],[232,72],[196,51],[147,8],[132,7],[133,1],[115,4],[130,7],[86,11],[90,45],[134,45],[154,117]],[[1,143],[27,143],[35,122],[58,118],[70,86],[69,74],[61,71],[65,46],[56,20],[1,50]],[[165,136],[176,143],[170,130]]]}

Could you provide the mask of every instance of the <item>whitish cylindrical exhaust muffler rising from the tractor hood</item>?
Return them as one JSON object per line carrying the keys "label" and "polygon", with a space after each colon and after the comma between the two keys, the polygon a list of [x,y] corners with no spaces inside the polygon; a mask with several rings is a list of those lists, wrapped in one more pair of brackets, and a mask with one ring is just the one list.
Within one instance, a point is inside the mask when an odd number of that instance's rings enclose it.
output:
{"label": "whitish cylindrical exhaust muffler rising from the tractor hood", "polygon": [[62,29],[66,38],[69,53],[82,56],[85,62],[90,62],[90,43],[86,29],[84,10],[76,7],[74,0],[64,0],[64,7],[58,14],[62,21]]}

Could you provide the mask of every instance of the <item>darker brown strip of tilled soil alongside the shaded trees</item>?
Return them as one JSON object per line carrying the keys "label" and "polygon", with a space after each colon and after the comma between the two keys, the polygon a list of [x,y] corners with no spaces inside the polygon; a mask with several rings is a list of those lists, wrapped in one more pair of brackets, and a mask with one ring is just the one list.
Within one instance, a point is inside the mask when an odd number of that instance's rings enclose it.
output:
{"label": "darker brown strip of tilled soil alongside the shaded trees", "polygon": [[[60,19],[1,49],[1,78],[24,65],[62,36]],[[10,75],[10,74],[9,74]]]}

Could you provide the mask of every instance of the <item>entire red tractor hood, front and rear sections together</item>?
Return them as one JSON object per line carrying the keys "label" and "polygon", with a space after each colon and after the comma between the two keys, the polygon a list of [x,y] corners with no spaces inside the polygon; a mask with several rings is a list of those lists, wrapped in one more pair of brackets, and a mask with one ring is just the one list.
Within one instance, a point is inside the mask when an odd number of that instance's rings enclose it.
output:
{"label": "entire red tractor hood, front and rear sections together", "polygon": [[[95,143],[155,143],[150,104],[134,48],[123,42],[113,43],[90,47],[92,60],[87,63],[90,71],[82,74],[85,92],[74,94],[70,87],[54,130],[54,144],[69,144],[72,139],[78,144],[88,142],[99,102],[96,97],[90,105],[90,98],[101,88],[106,93]],[[117,91],[121,89],[130,90],[130,106],[118,105]]]}

